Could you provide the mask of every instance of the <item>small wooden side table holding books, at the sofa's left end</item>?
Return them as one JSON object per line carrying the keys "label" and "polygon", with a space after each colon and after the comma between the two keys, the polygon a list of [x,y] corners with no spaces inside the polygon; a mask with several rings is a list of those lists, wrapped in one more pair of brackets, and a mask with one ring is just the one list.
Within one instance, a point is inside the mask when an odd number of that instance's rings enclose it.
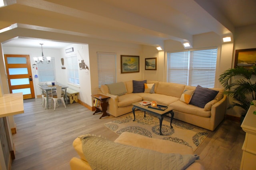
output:
{"label": "small wooden side table holding books, at the sofa's left end", "polygon": [[[109,116],[110,114],[107,113],[107,109],[108,109],[107,99],[110,97],[105,96],[103,94],[94,94],[94,95],[92,95],[92,97],[95,98],[93,102],[94,102],[94,106],[96,108],[96,111],[93,113],[93,115],[95,113],[103,112],[100,119],[102,117]],[[98,104],[98,102],[100,102],[100,104]]]}

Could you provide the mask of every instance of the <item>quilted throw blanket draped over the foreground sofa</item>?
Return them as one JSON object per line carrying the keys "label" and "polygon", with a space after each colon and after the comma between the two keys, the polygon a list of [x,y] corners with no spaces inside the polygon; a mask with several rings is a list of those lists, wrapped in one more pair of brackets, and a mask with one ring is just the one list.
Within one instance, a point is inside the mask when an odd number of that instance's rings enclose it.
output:
{"label": "quilted throw blanket draped over the foreground sofa", "polygon": [[166,154],[84,135],[82,150],[92,170],[184,170],[199,156]]}

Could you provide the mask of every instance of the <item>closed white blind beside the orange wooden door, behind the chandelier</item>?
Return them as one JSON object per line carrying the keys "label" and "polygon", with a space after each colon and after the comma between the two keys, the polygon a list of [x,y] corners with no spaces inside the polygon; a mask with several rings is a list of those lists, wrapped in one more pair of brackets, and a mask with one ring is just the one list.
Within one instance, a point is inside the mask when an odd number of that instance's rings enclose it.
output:
{"label": "closed white blind beside the orange wooden door, behind the chandelier", "polygon": [[39,63],[38,68],[38,81],[41,82],[54,82],[55,79],[55,62],[54,57],[51,57],[50,63]]}

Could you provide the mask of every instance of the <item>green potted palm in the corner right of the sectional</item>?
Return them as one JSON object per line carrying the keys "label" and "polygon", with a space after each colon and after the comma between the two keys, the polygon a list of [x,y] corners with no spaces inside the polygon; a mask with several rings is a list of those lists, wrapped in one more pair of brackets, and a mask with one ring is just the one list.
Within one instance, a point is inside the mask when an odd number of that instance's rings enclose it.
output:
{"label": "green potted palm in the corner right of the sectional", "polygon": [[224,71],[219,78],[220,83],[225,88],[224,94],[234,99],[228,109],[235,106],[242,109],[241,121],[246,115],[252,100],[256,99],[256,82],[252,80],[252,76],[255,74],[256,66],[252,66],[252,69],[240,66]]}

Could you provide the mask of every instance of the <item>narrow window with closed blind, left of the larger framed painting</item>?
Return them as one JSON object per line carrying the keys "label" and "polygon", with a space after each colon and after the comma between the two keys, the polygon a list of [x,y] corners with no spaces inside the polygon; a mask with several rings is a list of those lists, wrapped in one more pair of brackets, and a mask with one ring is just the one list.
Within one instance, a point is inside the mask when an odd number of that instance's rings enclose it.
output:
{"label": "narrow window with closed blind, left of the larger framed painting", "polygon": [[97,52],[98,87],[116,82],[116,53]]}

